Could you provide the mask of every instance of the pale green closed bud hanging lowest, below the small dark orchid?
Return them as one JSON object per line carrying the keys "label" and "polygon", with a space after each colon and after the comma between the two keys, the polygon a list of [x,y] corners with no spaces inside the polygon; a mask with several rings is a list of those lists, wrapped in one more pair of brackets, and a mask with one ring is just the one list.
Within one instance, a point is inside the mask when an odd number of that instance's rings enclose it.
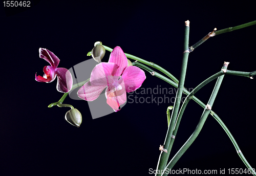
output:
{"label": "pale green closed bud hanging lowest, below the small dark orchid", "polygon": [[72,108],[70,111],[68,111],[65,115],[65,119],[71,124],[76,127],[79,127],[82,123],[82,115],[81,113],[76,109]]}

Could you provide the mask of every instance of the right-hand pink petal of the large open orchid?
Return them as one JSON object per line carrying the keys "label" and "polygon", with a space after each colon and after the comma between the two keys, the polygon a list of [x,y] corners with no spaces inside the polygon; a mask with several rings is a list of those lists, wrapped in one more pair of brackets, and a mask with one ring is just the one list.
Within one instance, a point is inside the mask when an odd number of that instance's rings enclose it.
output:
{"label": "right-hand pink petal of the large open orchid", "polygon": [[146,76],[145,72],[140,68],[129,66],[124,70],[122,78],[126,92],[133,92],[141,86]]}

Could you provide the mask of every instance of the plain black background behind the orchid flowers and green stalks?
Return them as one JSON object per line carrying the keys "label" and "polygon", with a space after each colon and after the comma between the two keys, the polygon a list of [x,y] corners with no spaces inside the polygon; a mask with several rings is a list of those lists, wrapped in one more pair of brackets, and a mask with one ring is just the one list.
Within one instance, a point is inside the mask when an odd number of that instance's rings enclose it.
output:
{"label": "plain black background behind the orchid flowers and green stalks", "polygon": [[[57,80],[34,80],[49,65],[39,58],[47,48],[59,67],[90,59],[95,41],[152,61],[179,78],[184,21],[189,46],[215,27],[220,30],[255,20],[254,3],[197,1],[31,1],[31,8],[1,5],[1,175],[150,175],[156,169],[167,131],[170,103],[127,103],[121,111],[92,119],[86,101],[66,98],[82,114],[79,128],[64,119],[69,108],[47,106],[59,100]],[[185,87],[195,88],[220,71],[251,72],[255,66],[255,26],[210,38],[189,54]],[[110,52],[102,61],[107,62]],[[141,87],[172,87],[146,72]],[[87,79],[87,78],[86,78]],[[207,103],[215,81],[196,94]],[[256,167],[254,149],[255,79],[226,75],[212,110],[229,128],[245,158]],[[150,95],[138,95],[150,96]],[[163,95],[156,95],[163,97]],[[175,95],[168,95],[175,96]],[[100,110],[99,110],[100,111]],[[170,157],[193,133],[203,108],[190,102]],[[195,142],[173,169],[243,168],[236,149],[209,116]]]}

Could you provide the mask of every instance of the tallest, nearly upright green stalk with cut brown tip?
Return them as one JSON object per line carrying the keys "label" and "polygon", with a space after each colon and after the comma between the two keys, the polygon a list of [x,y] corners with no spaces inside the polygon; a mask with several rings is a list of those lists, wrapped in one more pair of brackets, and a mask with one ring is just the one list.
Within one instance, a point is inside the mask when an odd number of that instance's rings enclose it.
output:
{"label": "tallest, nearly upright green stalk with cut brown tip", "polygon": [[[184,30],[184,52],[183,52],[183,58],[182,58],[182,63],[181,63],[181,74],[180,74],[180,80],[178,84],[178,91],[176,94],[175,102],[174,102],[174,109],[172,112],[170,124],[167,130],[166,138],[164,141],[164,148],[167,149],[167,153],[162,152],[161,155],[159,156],[160,161],[157,165],[156,170],[162,170],[165,168],[167,161],[168,161],[168,153],[171,150],[171,147],[169,147],[170,139],[172,138],[173,135],[173,130],[174,130],[174,125],[177,119],[179,107],[180,107],[180,101],[182,97],[182,92],[183,92],[183,87],[184,87],[184,82],[185,82],[185,76],[186,76],[186,70],[187,70],[187,60],[188,60],[188,39],[189,39],[189,21],[185,21],[185,30]],[[156,173],[156,175],[160,175]]]}

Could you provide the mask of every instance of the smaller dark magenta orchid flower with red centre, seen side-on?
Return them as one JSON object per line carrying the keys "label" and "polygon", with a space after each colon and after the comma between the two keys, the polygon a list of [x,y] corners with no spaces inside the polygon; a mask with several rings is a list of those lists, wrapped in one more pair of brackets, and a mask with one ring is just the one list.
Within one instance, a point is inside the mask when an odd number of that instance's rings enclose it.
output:
{"label": "smaller dark magenta orchid flower with red centre, seen side-on", "polygon": [[55,56],[53,52],[44,48],[39,48],[39,57],[48,61],[51,64],[51,66],[48,65],[44,67],[44,76],[36,76],[35,73],[35,80],[38,82],[49,83],[54,81],[54,79],[57,76],[57,91],[62,93],[69,92],[73,84],[72,76],[68,69],[57,68],[59,64],[59,58]]}

